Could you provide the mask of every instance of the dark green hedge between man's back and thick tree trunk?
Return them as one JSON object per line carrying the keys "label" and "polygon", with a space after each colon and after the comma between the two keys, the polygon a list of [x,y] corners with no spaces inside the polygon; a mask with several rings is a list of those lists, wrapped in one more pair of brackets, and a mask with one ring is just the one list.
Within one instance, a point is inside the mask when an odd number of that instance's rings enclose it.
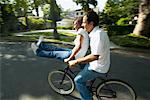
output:
{"label": "dark green hedge between man's back and thick tree trunk", "polygon": [[134,27],[135,27],[134,25],[126,25],[126,26],[108,25],[106,26],[109,36],[125,35],[125,34],[132,33]]}

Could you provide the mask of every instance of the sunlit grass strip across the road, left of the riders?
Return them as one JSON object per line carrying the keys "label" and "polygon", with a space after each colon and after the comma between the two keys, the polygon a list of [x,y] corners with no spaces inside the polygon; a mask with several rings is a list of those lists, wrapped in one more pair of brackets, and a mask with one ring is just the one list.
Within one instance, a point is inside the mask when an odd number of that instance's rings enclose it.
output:
{"label": "sunlit grass strip across the road, left of the riders", "polygon": [[3,36],[2,40],[4,41],[23,41],[23,42],[29,42],[29,41],[36,41],[39,36],[44,36],[46,41],[50,42],[73,42],[75,39],[75,34],[72,33],[66,33],[66,32],[60,32],[59,36],[60,39],[54,39],[53,33],[52,32],[39,32],[39,33],[27,33],[24,34],[23,36],[15,36],[15,35],[8,35],[8,36]]}

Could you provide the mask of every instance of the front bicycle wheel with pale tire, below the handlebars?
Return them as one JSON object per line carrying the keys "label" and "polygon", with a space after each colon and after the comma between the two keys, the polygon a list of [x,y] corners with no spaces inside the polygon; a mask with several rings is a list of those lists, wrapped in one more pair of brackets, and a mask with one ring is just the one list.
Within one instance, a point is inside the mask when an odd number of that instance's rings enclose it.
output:
{"label": "front bicycle wheel with pale tire, below the handlebars", "polygon": [[55,92],[62,95],[72,93],[75,88],[72,78],[68,74],[65,74],[63,71],[50,72],[48,74],[48,83]]}

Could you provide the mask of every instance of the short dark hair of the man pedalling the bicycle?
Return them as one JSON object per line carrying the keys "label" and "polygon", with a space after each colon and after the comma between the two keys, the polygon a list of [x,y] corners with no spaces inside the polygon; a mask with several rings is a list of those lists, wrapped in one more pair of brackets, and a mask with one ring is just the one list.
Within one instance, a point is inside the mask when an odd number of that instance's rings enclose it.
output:
{"label": "short dark hair of the man pedalling the bicycle", "polygon": [[88,23],[93,22],[93,26],[99,25],[99,16],[93,10],[90,10],[86,13]]}

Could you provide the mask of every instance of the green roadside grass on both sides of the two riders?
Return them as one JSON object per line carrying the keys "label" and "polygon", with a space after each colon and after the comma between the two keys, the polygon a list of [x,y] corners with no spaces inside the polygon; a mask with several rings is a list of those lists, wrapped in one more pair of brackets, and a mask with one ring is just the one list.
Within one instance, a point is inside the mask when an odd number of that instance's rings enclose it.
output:
{"label": "green roadside grass on both sides of the two riders", "polygon": [[[14,36],[14,35],[4,36],[1,38],[1,40],[33,42],[36,41],[40,35],[43,35],[47,42],[58,42],[58,43],[61,42],[72,43],[76,36],[75,34],[72,33],[60,32],[59,33],[60,39],[58,40],[54,39],[52,32],[39,32],[39,33],[25,34],[24,36]],[[110,40],[115,44],[123,47],[150,49],[150,38],[144,36],[136,36],[133,34],[117,35],[111,36]]]}

